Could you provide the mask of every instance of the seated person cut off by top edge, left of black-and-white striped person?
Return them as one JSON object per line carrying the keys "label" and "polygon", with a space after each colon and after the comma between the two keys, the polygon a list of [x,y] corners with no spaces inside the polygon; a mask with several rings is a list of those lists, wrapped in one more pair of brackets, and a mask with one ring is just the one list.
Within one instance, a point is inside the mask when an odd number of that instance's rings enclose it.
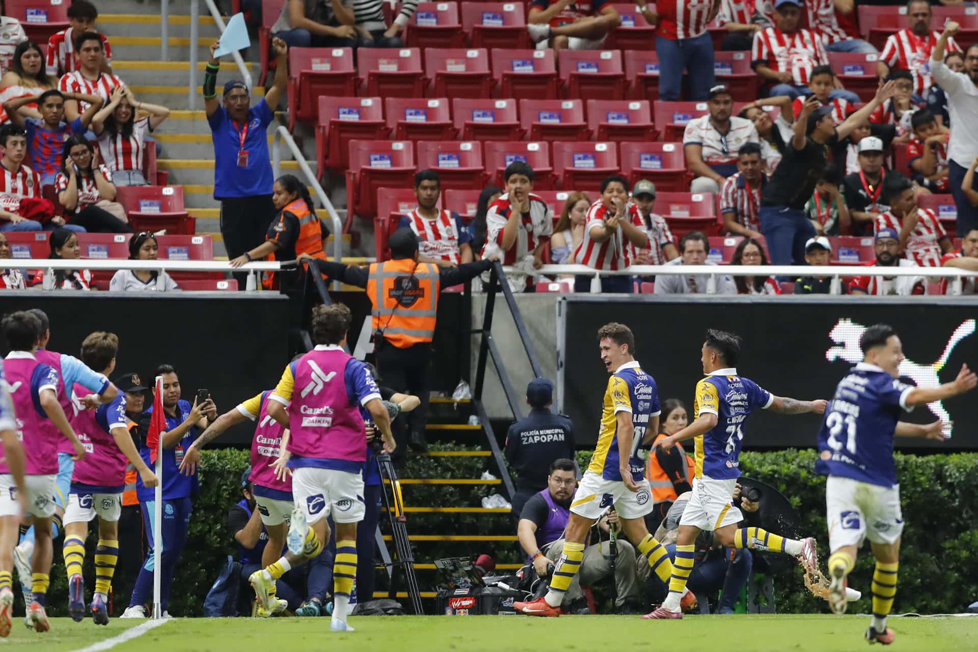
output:
{"label": "seated person cut off by top edge, left of black-and-white striped person", "polygon": [[360,39],[355,24],[351,0],[289,0],[272,34],[290,48],[356,48]]}

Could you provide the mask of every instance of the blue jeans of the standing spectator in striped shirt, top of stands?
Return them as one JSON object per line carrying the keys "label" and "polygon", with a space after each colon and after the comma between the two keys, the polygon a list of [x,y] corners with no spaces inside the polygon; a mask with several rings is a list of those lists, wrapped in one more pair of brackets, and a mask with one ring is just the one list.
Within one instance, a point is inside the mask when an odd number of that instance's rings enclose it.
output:
{"label": "blue jeans of the standing spectator in striped shirt, top of stands", "polygon": [[716,79],[713,72],[713,40],[709,32],[679,40],[656,36],[655,53],[659,57],[659,100],[679,100],[685,69],[689,72],[687,99],[706,101]]}

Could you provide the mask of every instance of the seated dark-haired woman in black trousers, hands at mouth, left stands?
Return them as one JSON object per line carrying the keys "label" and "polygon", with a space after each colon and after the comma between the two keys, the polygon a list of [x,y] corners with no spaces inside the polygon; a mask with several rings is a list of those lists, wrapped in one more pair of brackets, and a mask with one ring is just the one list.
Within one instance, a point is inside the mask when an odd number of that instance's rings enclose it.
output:
{"label": "seated dark-haired woman in black trousers, hands at mouth, left stands", "polygon": [[118,204],[111,205],[115,203],[112,173],[99,163],[99,153],[84,136],[71,136],[65,141],[55,188],[58,201],[71,215],[67,227],[82,227],[97,234],[132,233],[128,219],[123,222],[117,217],[125,217],[125,211]]}

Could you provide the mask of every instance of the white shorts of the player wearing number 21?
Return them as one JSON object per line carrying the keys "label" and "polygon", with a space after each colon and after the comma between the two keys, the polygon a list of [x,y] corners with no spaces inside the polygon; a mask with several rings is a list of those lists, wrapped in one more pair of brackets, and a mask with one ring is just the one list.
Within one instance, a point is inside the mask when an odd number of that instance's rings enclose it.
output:
{"label": "white shorts of the player wearing number 21", "polygon": [[904,532],[900,485],[881,487],[830,475],[825,481],[825,514],[832,552],[845,545],[859,547],[865,539],[895,543]]}

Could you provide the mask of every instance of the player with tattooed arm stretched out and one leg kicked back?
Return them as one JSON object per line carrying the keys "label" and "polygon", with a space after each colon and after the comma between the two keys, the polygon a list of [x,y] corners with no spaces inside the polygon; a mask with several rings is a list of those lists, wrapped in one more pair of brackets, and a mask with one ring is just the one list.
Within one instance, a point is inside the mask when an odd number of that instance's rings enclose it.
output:
{"label": "player with tattooed arm stretched out and one leg kicked back", "polygon": [[743,423],[755,408],[784,414],[823,413],[825,401],[798,401],[775,396],[753,380],[737,375],[740,338],[723,330],[706,331],[702,362],[706,377],[696,383],[693,421],[679,432],[660,440],[669,450],[692,437],[695,442],[695,478],[692,496],[679,522],[676,561],[665,602],[643,618],[683,618],[680,596],[686,589],[695,557],[695,541],[701,530],[712,531],[727,547],[784,552],[795,557],[809,573],[818,570],[814,539],[795,541],[762,528],[737,528],[743,520],[733,506],[733,490],[740,476]]}

